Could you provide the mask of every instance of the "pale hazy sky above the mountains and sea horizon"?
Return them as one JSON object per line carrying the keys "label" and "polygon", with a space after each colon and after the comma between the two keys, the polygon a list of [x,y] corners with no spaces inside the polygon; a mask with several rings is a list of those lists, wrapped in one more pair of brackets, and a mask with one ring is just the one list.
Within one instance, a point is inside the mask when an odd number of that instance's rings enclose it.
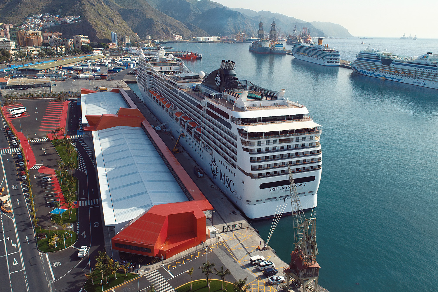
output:
{"label": "pale hazy sky above the mountains and sea horizon", "polygon": [[304,21],[326,21],[342,25],[353,36],[438,39],[438,0],[213,0],[227,7],[265,10]]}

